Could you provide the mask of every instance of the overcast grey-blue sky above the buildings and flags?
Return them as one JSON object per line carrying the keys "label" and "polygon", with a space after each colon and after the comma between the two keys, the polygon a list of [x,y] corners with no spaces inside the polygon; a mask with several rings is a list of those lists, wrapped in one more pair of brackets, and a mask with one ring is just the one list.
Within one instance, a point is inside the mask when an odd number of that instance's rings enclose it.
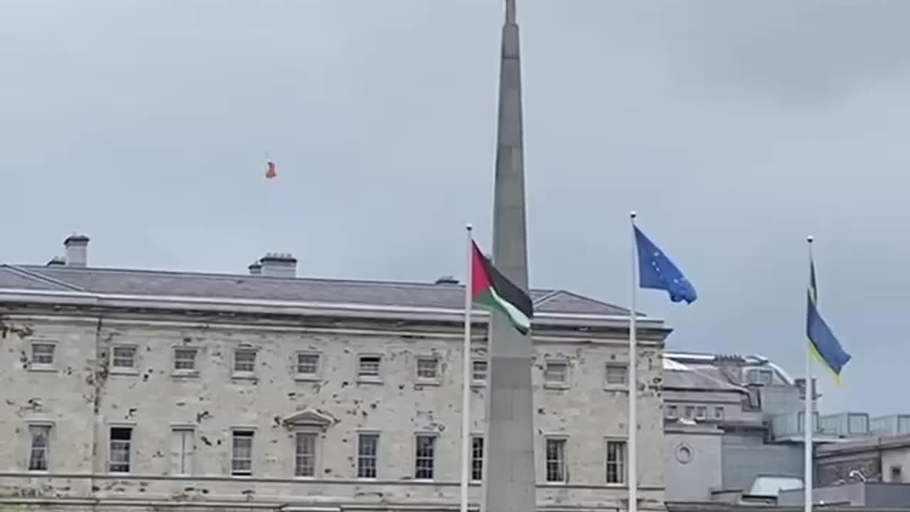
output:
{"label": "overcast grey-blue sky above the buildings and flags", "polygon": [[[498,0],[0,0],[0,261],[462,276],[489,246]],[[804,366],[805,236],[854,360],[910,413],[910,3],[520,0],[531,283],[627,305],[628,211],[700,293],[671,349]],[[278,179],[263,178],[264,159]]]}

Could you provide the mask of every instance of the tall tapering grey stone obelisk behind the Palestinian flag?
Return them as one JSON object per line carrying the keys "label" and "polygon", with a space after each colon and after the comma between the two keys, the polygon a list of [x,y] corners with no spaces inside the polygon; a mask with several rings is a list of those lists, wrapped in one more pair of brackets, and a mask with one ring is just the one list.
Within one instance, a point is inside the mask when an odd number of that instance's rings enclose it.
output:
{"label": "tall tapering grey stone obelisk behind the Palestinian flag", "polygon": [[[500,61],[493,263],[528,290],[521,133],[521,60],[515,0],[505,0]],[[490,381],[486,403],[483,512],[534,512],[534,425],[531,337],[494,312],[490,320]]]}

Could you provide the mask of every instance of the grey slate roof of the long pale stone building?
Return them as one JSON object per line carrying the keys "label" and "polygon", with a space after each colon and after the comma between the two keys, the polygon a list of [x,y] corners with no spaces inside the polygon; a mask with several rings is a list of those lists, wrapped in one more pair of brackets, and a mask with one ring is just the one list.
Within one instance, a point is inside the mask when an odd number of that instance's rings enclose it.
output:
{"label": "grey slate roof of the long pale stone building", "polygon": [[[0,265],[0,291],[4,289],[443,309],[464,307],[464,287],[450,283],[283,278],[95,267]],[[531,290],[531,298],[537,312],[629,314],[625,308],[564,290]]]}

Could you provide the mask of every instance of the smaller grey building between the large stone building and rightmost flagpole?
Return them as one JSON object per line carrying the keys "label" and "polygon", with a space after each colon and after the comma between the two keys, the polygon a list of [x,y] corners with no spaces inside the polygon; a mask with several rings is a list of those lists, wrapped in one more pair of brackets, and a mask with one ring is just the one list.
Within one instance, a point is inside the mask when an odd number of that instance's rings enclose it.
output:
{"label": "smaller grey building between the large stone building and rightmost flagpole", "polygon": [[781,428],[802,417],[801,380],[759,355],[682,352],[664,353],[663,378],[668,501],[765,499],[802,486],[802,436]]}

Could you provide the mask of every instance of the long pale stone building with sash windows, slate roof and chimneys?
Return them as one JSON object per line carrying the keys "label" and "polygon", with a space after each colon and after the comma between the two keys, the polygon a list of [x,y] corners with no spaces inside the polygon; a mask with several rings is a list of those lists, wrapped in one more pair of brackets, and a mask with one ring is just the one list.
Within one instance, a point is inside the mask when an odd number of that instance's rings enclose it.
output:
{"label": "long pale stone building with sash windows, slate roof and chimneys", "polygon": [[[281,254],[253,275],[99,269],[86,237],[66,243],[46,266],[0,266],[0,505],[457,509],[457,282],[300,279]],[[625,508],[628,312],[532,296],[539,508]],[[669,331],[639,330],[640,507],[660,509]]]}

